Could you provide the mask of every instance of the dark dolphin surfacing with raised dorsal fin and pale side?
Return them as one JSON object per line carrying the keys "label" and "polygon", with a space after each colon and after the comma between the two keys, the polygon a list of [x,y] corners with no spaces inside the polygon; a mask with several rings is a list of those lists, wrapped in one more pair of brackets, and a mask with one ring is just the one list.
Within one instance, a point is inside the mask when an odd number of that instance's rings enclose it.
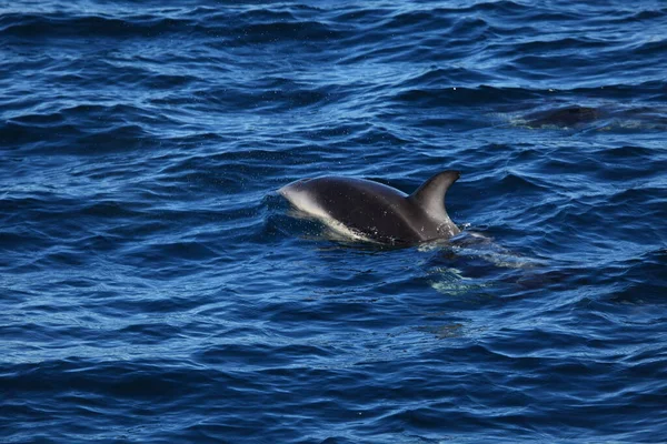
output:
{"label": "dark dolphin surfacing with raised dorsal fin and pale side", "polygon": [[278,193],[346,235],[411,244],[460,233],[445,210],[445,194],[459,176],[458,171],[444,171],[410,195],[378,182],[337,176],[301,179]]}

